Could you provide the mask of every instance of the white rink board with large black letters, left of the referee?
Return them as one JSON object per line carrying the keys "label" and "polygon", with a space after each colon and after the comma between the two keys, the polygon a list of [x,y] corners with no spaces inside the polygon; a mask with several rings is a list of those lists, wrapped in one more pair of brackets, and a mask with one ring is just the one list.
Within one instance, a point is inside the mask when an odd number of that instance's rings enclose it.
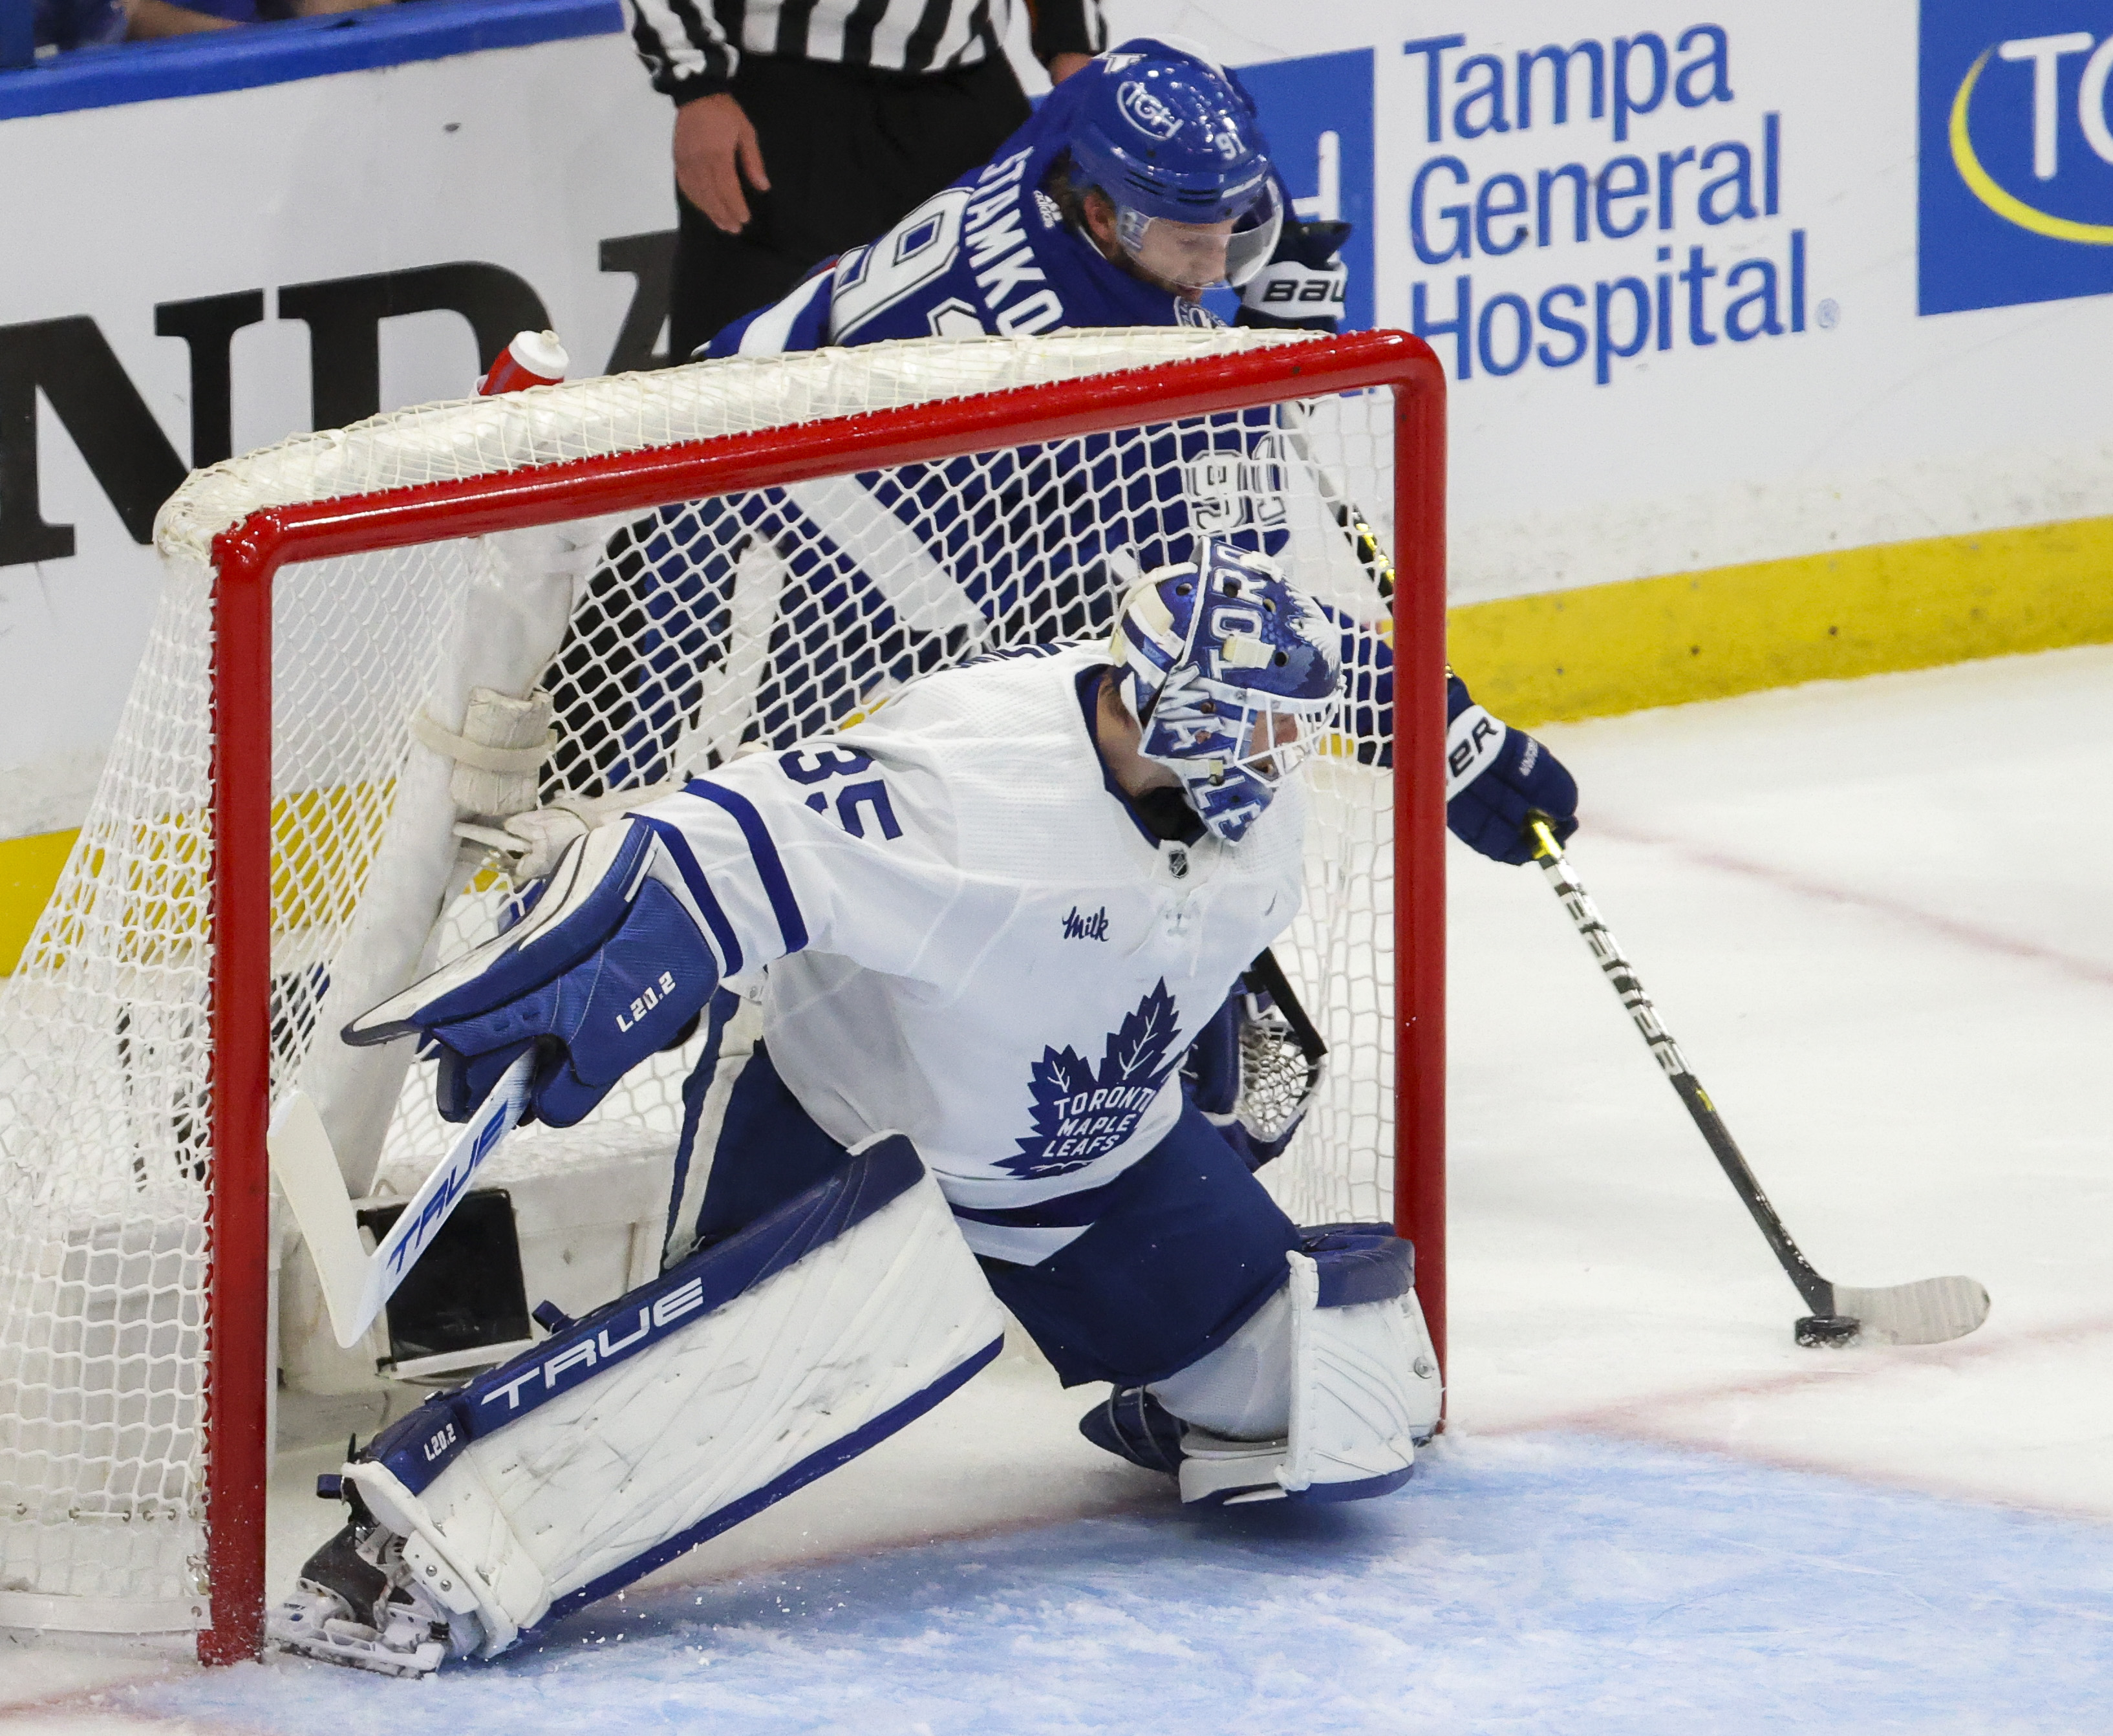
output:
{"label": "white rink board with large black letters, left of the referee", "polygon": [[653,361],[670,110],[604,13],[583,38],[0,120],[0,836],[78,824],[188,469],[461,397],[524,327],[556,325],[577,374]]}

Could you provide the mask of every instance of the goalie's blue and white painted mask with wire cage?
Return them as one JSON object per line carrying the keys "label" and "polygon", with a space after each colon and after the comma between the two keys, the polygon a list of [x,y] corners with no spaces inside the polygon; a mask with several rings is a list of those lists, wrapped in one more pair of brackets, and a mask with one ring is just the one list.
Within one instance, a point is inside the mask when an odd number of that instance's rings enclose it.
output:
{"label": "goalie's blue and white painted mask with wire cage", "polygon": [[1268,555],[1204,543],[1122,600],[1109,659],[1139,752],[1230,845],[1312,754],[1342,688],[1335,625]]}

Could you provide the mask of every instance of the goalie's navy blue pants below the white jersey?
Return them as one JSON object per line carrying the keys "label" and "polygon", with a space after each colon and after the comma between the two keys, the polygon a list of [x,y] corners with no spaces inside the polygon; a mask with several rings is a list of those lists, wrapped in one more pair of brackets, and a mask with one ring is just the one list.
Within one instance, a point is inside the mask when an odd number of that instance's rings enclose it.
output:
{"label": "goalie's navy blue pants below the white jersey", "polygon": [[[786,1090],[763,1043],[723,1067],[740,1077],[716,1128],[699,1126],[721,1069],[712,1050],[682,1090],[674,1197],[697,1170],[697,1244],[754,1223],[845,1155]],[[997,1299],[1065,1385],[1143,1385],[1185,1369],[1276,1292],[1285,1254],[1299,1246],[1297,1227],[1194,1105],[1105,1187],[953,1212]]]}

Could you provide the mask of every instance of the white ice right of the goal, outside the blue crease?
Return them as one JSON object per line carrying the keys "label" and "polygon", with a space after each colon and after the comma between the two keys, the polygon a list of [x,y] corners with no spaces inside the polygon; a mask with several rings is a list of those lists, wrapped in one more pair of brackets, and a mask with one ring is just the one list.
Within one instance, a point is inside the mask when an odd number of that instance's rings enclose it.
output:
{"label": "white ice right of the goal, outside the blue crease", "polygon": [[1454,1415],[2113,1518],[2113,648],[1547,731],[1572,862],[1813,1263],[1802,1314],[1530,870],[1452,857]]}

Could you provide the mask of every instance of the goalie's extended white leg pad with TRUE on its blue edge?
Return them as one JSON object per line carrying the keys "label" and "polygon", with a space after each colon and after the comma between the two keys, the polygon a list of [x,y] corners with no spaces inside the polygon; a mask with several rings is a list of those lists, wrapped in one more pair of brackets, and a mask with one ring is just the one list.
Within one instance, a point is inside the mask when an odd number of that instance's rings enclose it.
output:
{"label": "goalie's extended white leg pad with TRUE on its blue edge", "polygon": [[887,1438],[1002,1343],[938,1185],[883,1136],[344,1476],[492,1656]]}

